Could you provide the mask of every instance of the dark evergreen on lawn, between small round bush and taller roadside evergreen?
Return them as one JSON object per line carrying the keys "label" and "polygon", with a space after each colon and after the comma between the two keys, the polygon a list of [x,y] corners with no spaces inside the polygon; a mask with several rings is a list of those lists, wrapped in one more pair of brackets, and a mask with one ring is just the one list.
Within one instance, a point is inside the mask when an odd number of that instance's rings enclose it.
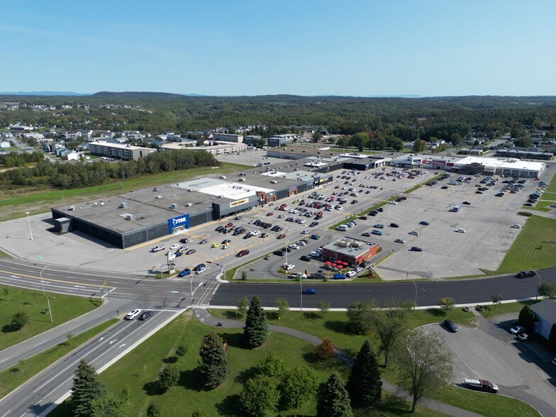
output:
{"label": "dark evergreen on lawn, between small round bush and taller roadside evergreen", "polygon": [[208,389],[218,387],[228,377],[230,367],[223,342],[216,333],[211,332],[206,337],[199,355],[201,355],[199,363],[201,382]]}

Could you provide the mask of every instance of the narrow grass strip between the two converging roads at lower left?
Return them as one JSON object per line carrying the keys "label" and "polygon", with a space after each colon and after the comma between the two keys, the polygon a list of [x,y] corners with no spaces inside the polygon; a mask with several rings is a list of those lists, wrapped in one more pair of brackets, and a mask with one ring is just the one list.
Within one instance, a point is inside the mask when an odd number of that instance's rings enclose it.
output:
{"label": "narrow grass strip between the two converging roads at lower left", "polygon": [[30,357],[29,359],[19,362],[18,365],[11,367],[0,372],[0,398],[6,396],[9,392],[19,387],[23,382],[26,382],[31,377],[34,377],[40,371],[56,362],[60,357],[74,350],[79,345],[87,342],[87,340],[94,338],[96,335],[106,330],[114,323],[117,323],[117,318],[111,318],[109,321],[91,328],[80,335],[74,336],[67,340],[67,343],[60,343],[48,350],[45,350],[38,355]]}

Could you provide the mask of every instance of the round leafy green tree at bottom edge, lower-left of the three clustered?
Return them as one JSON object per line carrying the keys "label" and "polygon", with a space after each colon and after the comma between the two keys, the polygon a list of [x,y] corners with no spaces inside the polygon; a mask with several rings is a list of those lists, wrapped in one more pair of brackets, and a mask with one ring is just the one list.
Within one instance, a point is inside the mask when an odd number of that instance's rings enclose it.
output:
{"label": "round leafy green tree at bottom edge, lower-left of the three clustered", "polygon": [[240,404],[247,416],[266,416],[274,411],[280,400],[277,379],[267,375],[257,375],[248,379],[240,395]]}

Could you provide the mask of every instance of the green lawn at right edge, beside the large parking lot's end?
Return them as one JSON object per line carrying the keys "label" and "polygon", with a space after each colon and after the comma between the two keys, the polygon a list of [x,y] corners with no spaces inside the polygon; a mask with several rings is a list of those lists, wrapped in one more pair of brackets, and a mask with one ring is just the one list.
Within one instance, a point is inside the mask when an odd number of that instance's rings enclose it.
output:
{"label": "green lawn at right edge, beside the large parking lot's end", "polygon": [[555,260],[556,220],[530,216],[496,272],[553,267]]}

